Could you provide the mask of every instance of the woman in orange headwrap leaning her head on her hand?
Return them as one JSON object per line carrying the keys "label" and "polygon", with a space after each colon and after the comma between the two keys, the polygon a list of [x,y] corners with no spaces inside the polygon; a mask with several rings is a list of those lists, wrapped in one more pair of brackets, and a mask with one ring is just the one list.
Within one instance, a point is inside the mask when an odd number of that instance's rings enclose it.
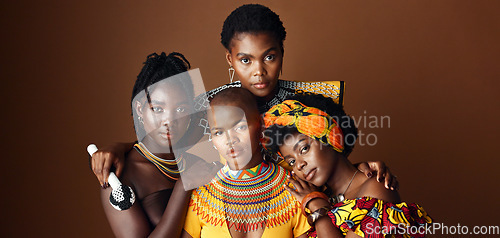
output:
{"label": "woman in orange headwrap leaning her head on her hand", "polygon": [[[341,105],[297,95],[264,116],[267,149],[293,167],[287,191],[302,201],[308,237],[423,237],[432,222],[422,207],[360,175],[347,159],[357,128]],[[320,189],[321,188],[321,189]]]}

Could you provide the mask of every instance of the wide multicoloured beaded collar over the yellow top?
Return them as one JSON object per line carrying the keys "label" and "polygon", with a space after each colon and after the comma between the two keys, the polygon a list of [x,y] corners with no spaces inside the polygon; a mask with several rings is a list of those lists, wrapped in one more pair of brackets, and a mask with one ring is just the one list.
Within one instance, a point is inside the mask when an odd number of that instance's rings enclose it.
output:
{"label": "wide multicoloured beaded collar over the yellow top", "polygon": [[239,232],[277,227],[300,214],[297,201],[283,187],[288,174],[284,168],[263,162],[253,169],[259,174],[235,179],[226,165],[209,184],[193,191],[189,209],[205,223],[226,223]]}

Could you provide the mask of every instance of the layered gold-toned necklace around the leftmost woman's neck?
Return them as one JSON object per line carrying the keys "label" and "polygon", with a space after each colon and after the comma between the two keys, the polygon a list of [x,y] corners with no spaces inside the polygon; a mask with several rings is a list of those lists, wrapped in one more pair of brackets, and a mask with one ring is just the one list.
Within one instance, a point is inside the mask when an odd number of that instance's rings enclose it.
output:
{"label": "layered gold-toned necklace around the leftmost woman's neck", "polygon": [[[182,153],[179,158],[168,160],[162,159],[151,153],[142,142],[135,144],[134,149],[137,150],[137,152],[139,152],[139,154],[141,154],[149,162],[153,163],[156,168],[158,168],[165,176],[172,180],[177,181],[179,177],[173,176],[179,176],[179,174],[182,173],[185,169],[186,162],[184,160],[184,157],[182,156]],[[177,166],[179,169],[170,169],[168,168],[168,166]]]}

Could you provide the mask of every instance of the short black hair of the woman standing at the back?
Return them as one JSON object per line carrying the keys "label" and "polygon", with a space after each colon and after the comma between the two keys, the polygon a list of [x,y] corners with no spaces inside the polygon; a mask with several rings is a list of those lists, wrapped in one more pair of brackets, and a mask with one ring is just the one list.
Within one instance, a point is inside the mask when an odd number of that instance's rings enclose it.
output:
{"label": "short black hair of the woman standing at the back", "polygon": [[285,27],[278,14],[260,4],[246,4],[236,8],[224,21],[221,43],[230,49],[231,40],[237,33],[270,33],[279,41],[283,51],[283,41],[286,38]]}

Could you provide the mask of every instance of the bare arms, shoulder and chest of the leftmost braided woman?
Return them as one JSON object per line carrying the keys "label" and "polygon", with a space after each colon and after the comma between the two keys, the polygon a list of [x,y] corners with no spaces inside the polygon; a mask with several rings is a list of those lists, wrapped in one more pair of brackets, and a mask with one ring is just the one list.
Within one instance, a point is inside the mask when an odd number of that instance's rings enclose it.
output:
{"label": "bare arms, shoulder and chest of the leftmost braided woman", "polygon": [[[206,171],[209,167],[200,158],[193,155],[186,157],[186,161],[189,162],[187,167],[190,169],[203,167]],[[213,175],[217,170],[210,171],[210,174]],[[191,196],[191,190],[185,189],[186,184],[182,178],[177,182],[166,179],[151,162],[144,159],[136,150],[132,150],[127,156],[121,180],[136,194],[136,202],[131,208],[125,211],[115,210],[109,204],[111,188],[101,190],[104,212],[117,237],[165,237],[165,234],[172,237],[180,236],[185,219],[183,214],[186,213]],[[187,187],[192,186],[187,184]],[[153,197],[148,200],[147,207],[142,206],[140,201],[148,195],[172,188],[170,199]]]}

